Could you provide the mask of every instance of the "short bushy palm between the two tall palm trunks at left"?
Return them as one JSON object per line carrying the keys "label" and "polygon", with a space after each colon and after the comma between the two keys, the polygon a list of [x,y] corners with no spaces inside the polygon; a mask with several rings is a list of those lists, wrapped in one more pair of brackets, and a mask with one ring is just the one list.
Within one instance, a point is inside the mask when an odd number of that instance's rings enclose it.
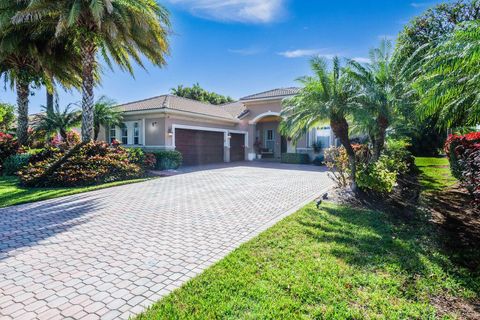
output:
{"label": "short bushy palm between the two tall palm trunks at left", "polygon": [[60,110],[58,104],[53,109],[43,106],[45,113],[39,116],[36,129],[49,135],[59,133],[62,140],[66,141],[68,130],[80,124],[80,113],[72,110],[72,107],[73,105],[69,104]]}

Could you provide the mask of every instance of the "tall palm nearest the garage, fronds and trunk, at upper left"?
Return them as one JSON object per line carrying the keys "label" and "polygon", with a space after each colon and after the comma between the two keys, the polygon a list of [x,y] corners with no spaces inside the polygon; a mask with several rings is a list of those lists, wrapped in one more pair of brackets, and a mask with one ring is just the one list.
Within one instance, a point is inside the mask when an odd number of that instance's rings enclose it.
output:
{"label": "tall palm nearest the garage, fronds and trunk, at upper left", "polygon": [[[131,60],[143,67],[140,54],[153,64],[166,63],[169,15],[155,0],[31,1],[15,21],[55,17],[57,36],[75,33],[82,56],[82,140],[93,138],[94,70],[97,54],[133,73]],[[113,60],[113,62],[112,62]]]}

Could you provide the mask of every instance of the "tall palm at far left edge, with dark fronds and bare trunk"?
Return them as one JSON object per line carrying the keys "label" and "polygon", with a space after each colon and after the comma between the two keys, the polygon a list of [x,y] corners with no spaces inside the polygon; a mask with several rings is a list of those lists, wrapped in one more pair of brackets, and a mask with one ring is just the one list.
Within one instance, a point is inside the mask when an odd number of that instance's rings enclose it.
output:
{"label": "tall palm at far left edge, with dark fronds and bare trunk", "polygon": [[13,23],[26,1],[5,0],[0,11],[0,76],[17,92],[17,138],[27,142],[28,99],[31,86],[53,82],[78,84],[78,51],[68,38],[55,38],[55,25]]}

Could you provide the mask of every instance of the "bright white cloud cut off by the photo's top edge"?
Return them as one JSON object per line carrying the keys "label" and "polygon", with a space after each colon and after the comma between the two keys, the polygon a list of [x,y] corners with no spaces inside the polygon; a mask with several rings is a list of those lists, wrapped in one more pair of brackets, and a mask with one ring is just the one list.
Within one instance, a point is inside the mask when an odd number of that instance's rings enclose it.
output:
{"label": "bright white cloud cut off by the photo's top edge", "polygon": [[284,14],[285,0],[168,0],[192,14],[217,21],[270,23]]}

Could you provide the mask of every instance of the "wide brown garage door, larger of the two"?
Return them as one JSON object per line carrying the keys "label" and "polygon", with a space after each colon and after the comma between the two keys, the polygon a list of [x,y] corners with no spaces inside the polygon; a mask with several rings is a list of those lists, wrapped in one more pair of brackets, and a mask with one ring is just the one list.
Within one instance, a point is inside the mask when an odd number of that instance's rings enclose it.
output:
{"label": "wide brown garage door, larger of the two", "polygon": [[223,162],[223,132],[176,129],[175,147],[184,166]]}

